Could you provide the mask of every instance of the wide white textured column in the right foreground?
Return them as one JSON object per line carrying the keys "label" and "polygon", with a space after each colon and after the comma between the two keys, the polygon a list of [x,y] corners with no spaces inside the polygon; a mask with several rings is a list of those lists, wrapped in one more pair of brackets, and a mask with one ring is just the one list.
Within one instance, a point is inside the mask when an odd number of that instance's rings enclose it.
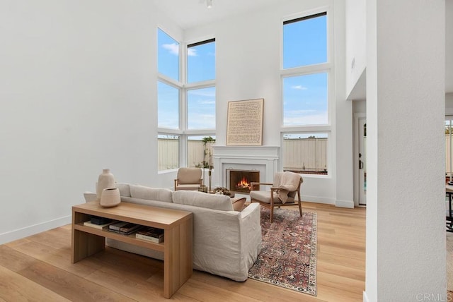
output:
{"label": "wide white textured column in the right foreground", "polygon": [[364,301],[447,301],[444,116],[445,1],[368,0]]}

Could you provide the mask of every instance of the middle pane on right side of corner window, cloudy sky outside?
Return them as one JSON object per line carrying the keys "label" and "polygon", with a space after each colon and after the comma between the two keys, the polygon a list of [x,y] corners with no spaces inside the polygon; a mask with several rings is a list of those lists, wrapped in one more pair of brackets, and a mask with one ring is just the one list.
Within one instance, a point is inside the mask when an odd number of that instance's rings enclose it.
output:
{"label": "middle pane on right side of corner window, cloudy sky outside", "polygon": [[215,128],[215,87],[187,91],[187,128]]}

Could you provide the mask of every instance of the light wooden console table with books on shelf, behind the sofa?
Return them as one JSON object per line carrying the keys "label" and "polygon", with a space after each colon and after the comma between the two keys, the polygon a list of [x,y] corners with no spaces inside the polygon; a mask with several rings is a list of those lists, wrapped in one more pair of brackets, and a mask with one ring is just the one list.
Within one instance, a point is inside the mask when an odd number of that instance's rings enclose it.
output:
{"label": "light wooden console table with books on shelf, behind the sofa", "polygon": [[[164,242],[152,243],[105,229],[84,226],[90,215],[164,229]],[[164,297],[170,298],[192,276],[193,214],[180,210],[120,203],[101,207],[98,201],[72,207],[72,254],[75,263],[105,249],[105,238],[164,252]]]}

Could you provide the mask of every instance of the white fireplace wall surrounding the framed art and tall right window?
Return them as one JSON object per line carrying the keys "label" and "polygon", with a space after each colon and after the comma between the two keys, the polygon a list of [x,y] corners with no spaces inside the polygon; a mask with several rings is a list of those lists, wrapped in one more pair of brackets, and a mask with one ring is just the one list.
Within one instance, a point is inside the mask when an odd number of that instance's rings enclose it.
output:
{"label": "white fireplace wall surrounding the framed art and tall right window", "polygon": [[[280,146],[282,97],[279,74],[282,20],[285,17],[297,16],[299,13],[311,11],[318,7],[330,7],[333,12],[333,1],[291,1],[288,4],[279,4],[273,8],[219,20],[210,25],[185,31],[185,40],[192,41],[210,35],[214,35],[216,38],[216,145],[225,145],[228,102],[262,97],[264,98],[263,145]],[[344,16],[339,14],[338,19],[335,19],[336,16],[336,13],[333,13],[333,19],[331,20],[338,22],[340,28],[343,26],[344,31]],[[331,26],[333,26],[333,23]],[[338,30],[338,34],[341,39],[341,30]],[[337,53],[333,53],[333,55],[335,59],[343,60],[341,58],[342,56],[344,57],[344,36],[343,42],[336,41],[336,43],[340,43],[340,45],[335,44],[333,51],[337,50]],[[336,71],[333,70],[334,72]],[[304,176],[302,198],[319,203],[335,204],[337,194],[336,179],[339,176],[344,176],[345,182],[340,183],[340,185],[350,187],[342,188],[338,193],[342,195],[341,200],[348,200],[349,205],[352,204],[352,167],[342,167],[339,170],[340,175],[338,175],[336,174],[335,163],[338,158],[336,150],[343,150],[342,154],[349,152],[348,156],[350,155],[351,159],[345,158],[343,164],[352,163],[352,111],[350,102],[348,104],[343,102],[345,100],[345,83],[344,80],[342,82],[343,77],[341,75],[344,74],[344,68],[340,66],[337,72],[340,81],[334,84],[338,85],[338,87],[336,86],[337,93],[331,103],[333,108],[333,111],[331,111],[333,127],[329,137],[331,142],[329,162],[333,163],[333,167],[329,171],[331,175],[328,178],[323,176]],[[344,119],[341,119],[341,122],[345,124],[337,133],[335,125],[336,106],[340,106],[341,112],[347,115]],[[340,146],[338,145],[338,140],[336,140],[338,133],[346,138],[346,140],[340,142],[342,144]]]}

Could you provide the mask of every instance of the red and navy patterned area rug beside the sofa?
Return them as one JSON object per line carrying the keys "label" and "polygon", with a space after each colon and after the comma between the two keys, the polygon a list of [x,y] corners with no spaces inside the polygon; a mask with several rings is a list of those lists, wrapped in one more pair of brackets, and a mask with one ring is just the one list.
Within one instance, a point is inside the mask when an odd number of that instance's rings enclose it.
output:
{"label": "red and navy patterned area rug beside the sofa", "polygon": [[316,213],[261,207],[263,248],[248,277],[316,296]]}

